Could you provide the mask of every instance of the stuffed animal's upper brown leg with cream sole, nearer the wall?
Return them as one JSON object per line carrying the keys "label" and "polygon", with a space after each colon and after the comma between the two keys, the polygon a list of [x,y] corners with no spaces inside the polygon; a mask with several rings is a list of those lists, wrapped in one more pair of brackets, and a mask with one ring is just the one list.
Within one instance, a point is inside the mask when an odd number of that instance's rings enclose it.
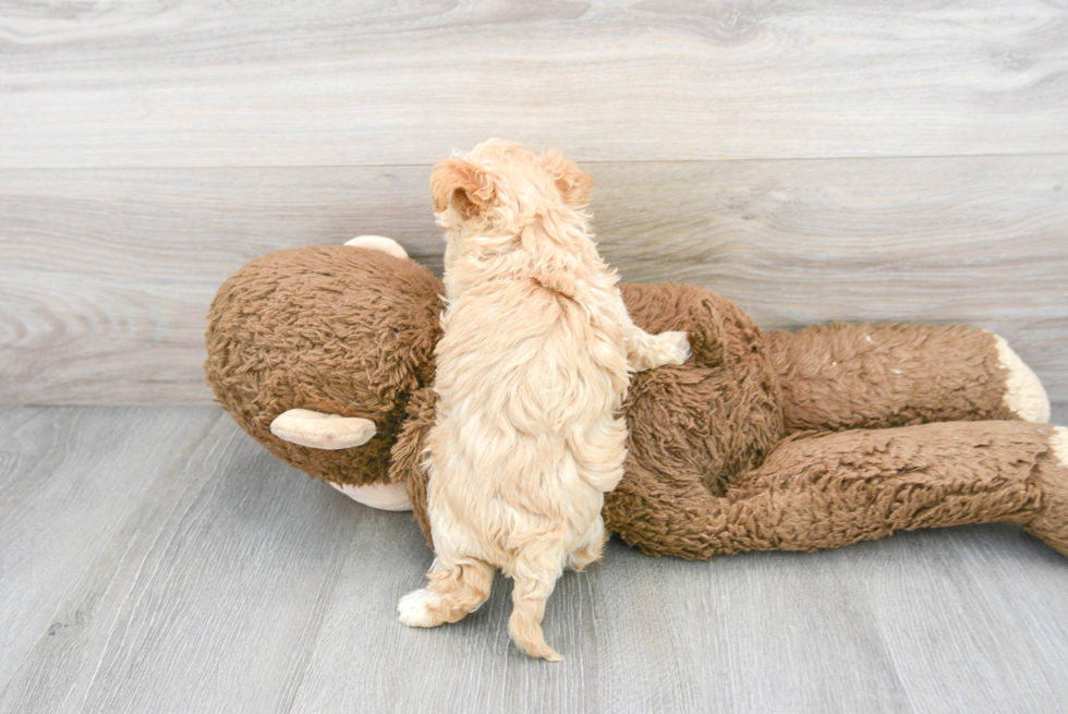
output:
{"label": "stuffed animal's upper brown leg with cream sole, nearer the wall", "polygon": [[1049,420],[1042,383],[984,329],[834,324],[766,337],[788,432]]}

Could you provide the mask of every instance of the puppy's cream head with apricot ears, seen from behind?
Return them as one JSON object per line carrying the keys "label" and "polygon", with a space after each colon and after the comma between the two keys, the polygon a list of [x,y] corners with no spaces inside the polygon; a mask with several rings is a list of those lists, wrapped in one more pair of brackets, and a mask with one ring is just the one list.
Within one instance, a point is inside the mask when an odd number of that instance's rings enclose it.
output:
{"label": "puppy's cream head with apricot ears, seen from behind", "polygon": [[438,226],[464,233],[507,230],[553,207],[582,208],[592,187],[590,174],[559,152],[535,156],[495,138],[438,162],[430,176]]}

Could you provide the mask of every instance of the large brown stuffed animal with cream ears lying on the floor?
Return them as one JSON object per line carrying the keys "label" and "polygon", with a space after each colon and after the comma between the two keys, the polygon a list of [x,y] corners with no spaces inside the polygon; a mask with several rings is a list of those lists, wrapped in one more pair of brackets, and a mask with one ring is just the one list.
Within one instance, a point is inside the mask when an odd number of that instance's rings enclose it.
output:
{"label": "large brown stuffed animal with cream ears lying on the floor", "polygon": [[[410,501],[429,537],[420,462],[442,292],[389,239],[267,255],[211,305],[208,382],[275,456],[364,503]],[[765,334],[700,288],[622,293],[635,324],[693,348],[633,377],[626,474],[604,508],[626,542],[711,558],[1003,522],[1068,555],[1068,432],[1042,423],[1041,384],[996,335]]]}

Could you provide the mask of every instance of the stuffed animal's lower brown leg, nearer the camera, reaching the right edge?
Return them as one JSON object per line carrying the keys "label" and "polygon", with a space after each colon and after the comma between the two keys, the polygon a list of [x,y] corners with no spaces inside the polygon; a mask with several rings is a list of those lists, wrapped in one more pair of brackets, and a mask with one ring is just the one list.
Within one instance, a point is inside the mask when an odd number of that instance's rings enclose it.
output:
{"label": "stuffed animal's lower brown leg, nearer the camera, reaching the right edge", "polygon": [[[642,467],[628,464],[633,472]],[[802,434],[721,496],[695,479],[624,479],[606,525],[651,555],[817,550],[898,530],[1015,523],[1068,555],[1068,431],[943,422]],[[648,484],[655,484],[651,491]]]}

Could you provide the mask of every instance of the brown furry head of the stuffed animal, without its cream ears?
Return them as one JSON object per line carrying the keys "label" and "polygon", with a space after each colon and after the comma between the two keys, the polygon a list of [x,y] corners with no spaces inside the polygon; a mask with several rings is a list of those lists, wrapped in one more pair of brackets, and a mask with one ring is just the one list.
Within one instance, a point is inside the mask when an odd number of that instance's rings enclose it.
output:
{"label": "brown furry head of the stuffed animal, without its cream ears", "polygon": [[[211,303],[208,384],[290,465],[340,485],[385,483],[410,397],[434,379],[442,293],[429,270],[383,251],[271,253],[230,276]],[[270,428],[292,409],[366,419],[374,436],[357,448],[300,446]]]}

